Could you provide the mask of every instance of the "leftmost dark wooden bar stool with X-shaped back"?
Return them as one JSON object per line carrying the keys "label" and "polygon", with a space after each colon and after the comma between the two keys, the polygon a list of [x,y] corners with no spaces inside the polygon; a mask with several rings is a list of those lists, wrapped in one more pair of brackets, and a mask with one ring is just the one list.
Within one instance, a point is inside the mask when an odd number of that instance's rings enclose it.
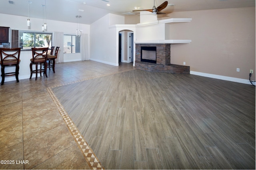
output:
{"label": "leftmost dark wooden bar stool with X-shaped back", "polygon": [[[2,73],[2,82],[1,85],[4,84],[5,76],[14,76],[16,77],[16,81],[19,82],[19,70],[20,70],[20,48],[0,48],[0,56],[1,56],[1,73]],[[4,72],[4,68],[6,66],[15,66],[15,72]]]}

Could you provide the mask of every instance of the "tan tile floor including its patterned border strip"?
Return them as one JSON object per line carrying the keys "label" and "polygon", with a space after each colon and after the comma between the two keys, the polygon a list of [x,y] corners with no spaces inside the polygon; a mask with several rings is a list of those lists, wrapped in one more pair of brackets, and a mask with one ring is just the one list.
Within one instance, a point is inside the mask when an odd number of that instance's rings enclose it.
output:
{"label": "tan tile floor including its patterned border strip", "polygon": [[0,169],[104,169],[51,87],[132,70],[94,61],[57,63],[56,73],[0,86]]}

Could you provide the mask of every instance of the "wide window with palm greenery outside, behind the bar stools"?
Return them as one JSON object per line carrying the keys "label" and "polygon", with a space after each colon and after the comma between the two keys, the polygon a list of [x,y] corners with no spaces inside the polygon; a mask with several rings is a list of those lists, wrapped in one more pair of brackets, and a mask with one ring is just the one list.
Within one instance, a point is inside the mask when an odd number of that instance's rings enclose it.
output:
{"label": "wide window with palm greenery outside, behind the bar stools", "polygon": [[52,33],[19,31],[19,40],[21,49],[52,47]]}

